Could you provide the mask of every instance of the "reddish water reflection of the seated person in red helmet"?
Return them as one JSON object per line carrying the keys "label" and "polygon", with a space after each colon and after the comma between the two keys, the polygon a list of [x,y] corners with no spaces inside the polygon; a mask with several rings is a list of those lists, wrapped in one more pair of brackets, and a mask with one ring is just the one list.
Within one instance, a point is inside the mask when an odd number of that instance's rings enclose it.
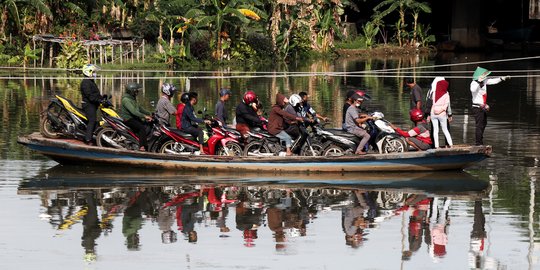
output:
{"label": "reddish water reflection of the seated person in red helmet", "polygon": [[426,244],[431,244],[428,226],[428,210],[432,198],[424,195],[412,195],[407,198],[405,206],[398,211],[411,210],[409,217],[409,250],[403,251],[402,259],[409,260],[412,254],[422,246],[422,236]]}

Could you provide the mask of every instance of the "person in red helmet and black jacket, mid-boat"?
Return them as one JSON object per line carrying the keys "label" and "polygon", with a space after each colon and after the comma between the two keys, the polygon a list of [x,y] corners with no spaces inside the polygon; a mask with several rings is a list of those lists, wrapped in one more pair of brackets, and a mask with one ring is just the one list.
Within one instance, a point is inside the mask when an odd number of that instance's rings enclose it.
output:
{"label": "person in red helmet and black jacket, mid-boat", "polygon": [[261,127],[263,121],[257,114],[259,99],[253,91],[247,91],[242,102],[236,106],[236,130],[244,136],[250,129]]}

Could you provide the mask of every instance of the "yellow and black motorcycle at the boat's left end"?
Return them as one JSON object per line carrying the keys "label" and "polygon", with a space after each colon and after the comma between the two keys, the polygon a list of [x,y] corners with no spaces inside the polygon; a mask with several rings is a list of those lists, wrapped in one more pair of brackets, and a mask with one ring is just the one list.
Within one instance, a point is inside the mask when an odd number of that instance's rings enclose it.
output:
{"label": "yellow and black motorcycle at the boat's left end", "polygon": [[[104,116],[119,117],[113,109],[110,97],[106,95],[98,108]],[[47,109],[41,113],[40,131],[47,138],[57,139],[63,136],[83,140],[87,125],[88,118],[84,111],[60,95],[55,95]],[[102,125],[103,122],[99,122],[94,134],[102,129]]]}

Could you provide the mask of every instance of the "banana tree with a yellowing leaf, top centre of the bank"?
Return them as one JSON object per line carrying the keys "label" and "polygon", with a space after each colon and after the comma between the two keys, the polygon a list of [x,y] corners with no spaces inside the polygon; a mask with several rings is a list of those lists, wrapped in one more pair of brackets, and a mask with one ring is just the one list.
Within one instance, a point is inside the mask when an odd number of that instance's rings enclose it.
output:
{"label": "banana tree with a yellowing leaf, top centre of the bank", "polygon": [[[250,23],[258,21],[266,15],[256,6],[258,0],[209,0],[201,7],[189,10],[185,17],[196,21],[199,29],[208,29],[212,35],[210,46],[214,49],[214,57],[222,60],[224,57],[223,39],[231,37],[232,32]],[[251,20],[250,20],[251,19]]]}

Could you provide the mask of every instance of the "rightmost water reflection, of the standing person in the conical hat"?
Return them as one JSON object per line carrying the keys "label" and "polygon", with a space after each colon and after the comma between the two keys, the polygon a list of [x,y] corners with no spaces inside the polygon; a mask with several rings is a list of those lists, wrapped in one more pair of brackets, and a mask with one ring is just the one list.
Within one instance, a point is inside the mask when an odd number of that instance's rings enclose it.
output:
{"label": "rightmost water reflection, of the standing person in the conical hat", "polygon": [[474,202],[474,221],[469,247],[469,267],[471,269],[485,269],[484,243],[487,236],[484,229],[485,224],[486,218],[482,210],[482,201],[479,199]]}

